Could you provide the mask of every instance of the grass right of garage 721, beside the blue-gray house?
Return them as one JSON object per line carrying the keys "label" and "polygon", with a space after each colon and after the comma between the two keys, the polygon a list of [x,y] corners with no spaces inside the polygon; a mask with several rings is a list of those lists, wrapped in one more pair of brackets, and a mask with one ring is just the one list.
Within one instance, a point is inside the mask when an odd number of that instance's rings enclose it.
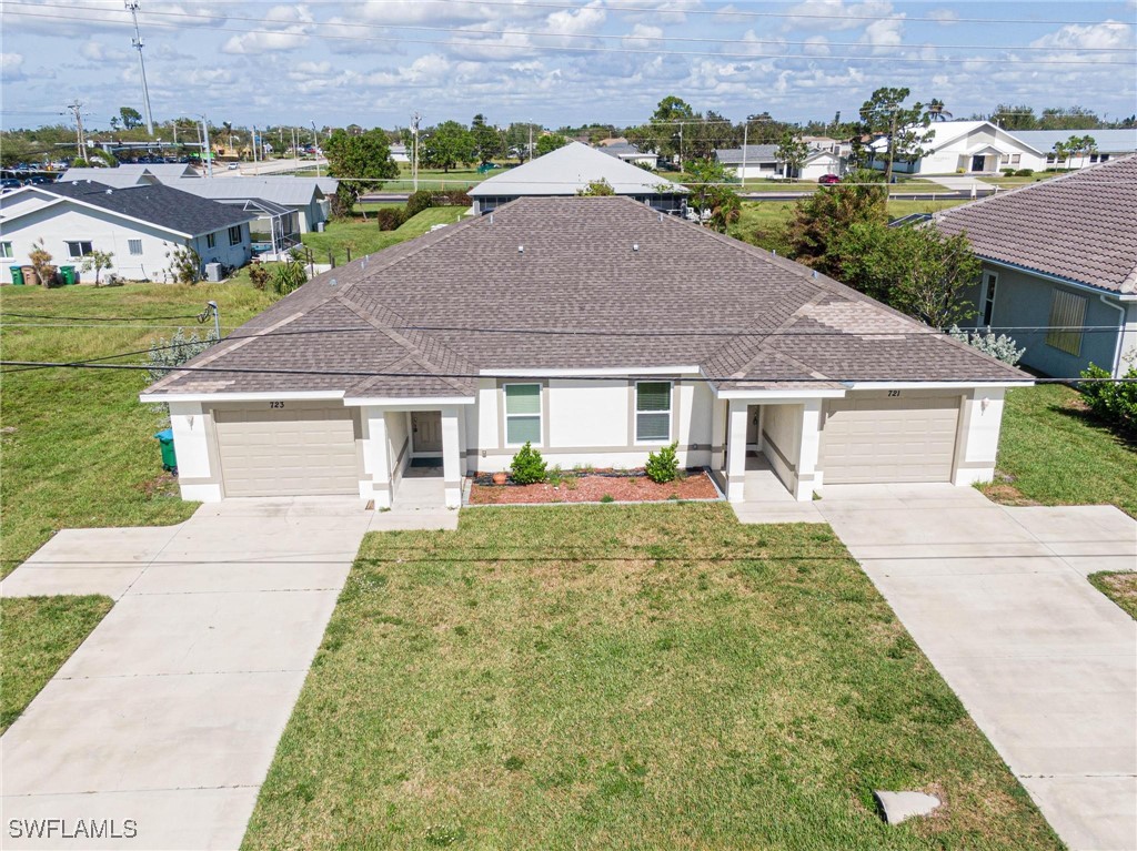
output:
{"label": "grass right of garage 721, beside the blue-gray house", "polygon": [[997,469],[995,484],[982,487],[991,499],[1113,504],[1137,517],[1137,444],[1095,419],[1068,386],[1007,392]]}

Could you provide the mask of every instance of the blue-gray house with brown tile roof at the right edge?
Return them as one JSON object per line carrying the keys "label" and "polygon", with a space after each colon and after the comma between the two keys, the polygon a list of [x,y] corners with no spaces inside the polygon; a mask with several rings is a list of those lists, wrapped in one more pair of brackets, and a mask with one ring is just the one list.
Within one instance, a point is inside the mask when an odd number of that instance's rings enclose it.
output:
{"label": "blue-gray house with brown tile roof at the right edge", "polygon": [[[1121,376],[1137,353],[1137,156],[937,214],[982,258],[974,324],[1005,329],[1026,366]],[[1039,331],[1031,331],[1039,328]]]}

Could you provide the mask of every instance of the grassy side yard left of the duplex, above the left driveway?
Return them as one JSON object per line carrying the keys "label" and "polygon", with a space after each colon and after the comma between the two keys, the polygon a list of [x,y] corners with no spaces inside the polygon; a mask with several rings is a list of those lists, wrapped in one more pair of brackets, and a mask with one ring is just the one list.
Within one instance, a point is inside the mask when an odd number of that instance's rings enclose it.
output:
{"label": "grassy side yard left of the duplex, above the left driveway", "polygon": [[[48,323],[13,314],[69,317],[166,317],[196,314],[216,301],[233,328],[272,302],[248,285],[130,284],[100,287],[6,286],[0,294],[0,347],[6,360],[81,360],[144,350],[196,319]],[[65,327],[27,326],[26,323]],[[139,364],[142,354],[119,362]],[[7,368],[6,368],[7,369]],[[180,523],[197,503],[182,502],[163,474],[153,433],[160,415],[139,402],[144,372],[38,369],[3,376],[0,395],[3,489],[0,575],[7,575],[61,528]]]}

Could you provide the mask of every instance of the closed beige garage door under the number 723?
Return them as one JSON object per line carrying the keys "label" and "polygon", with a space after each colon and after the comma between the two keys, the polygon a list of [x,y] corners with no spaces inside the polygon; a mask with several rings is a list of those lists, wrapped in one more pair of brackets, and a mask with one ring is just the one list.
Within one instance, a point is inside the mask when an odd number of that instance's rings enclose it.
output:
{"label": "closed beige garage door under the number 723", "polygon": [[346,408],[263,402],[217,409],[214,420],[226,497],[359,492],[355,431]]}

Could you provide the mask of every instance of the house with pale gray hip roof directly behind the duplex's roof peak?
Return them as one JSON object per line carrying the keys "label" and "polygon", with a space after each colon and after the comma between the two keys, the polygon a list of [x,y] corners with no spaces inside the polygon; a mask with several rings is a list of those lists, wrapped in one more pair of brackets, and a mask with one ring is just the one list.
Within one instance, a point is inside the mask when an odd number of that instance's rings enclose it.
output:
{"label": "house with pale gray hip roof directly behind the duplex's roof peak", "polygon": [[536,157],[482,181],[470,190],[474,214],[492,212],[518,198],[575,195],[596,181],[607,181],[615,194],[626,195],[661,212],[680,214],[688,190],[638,166],[570,142],[543,157]]}

